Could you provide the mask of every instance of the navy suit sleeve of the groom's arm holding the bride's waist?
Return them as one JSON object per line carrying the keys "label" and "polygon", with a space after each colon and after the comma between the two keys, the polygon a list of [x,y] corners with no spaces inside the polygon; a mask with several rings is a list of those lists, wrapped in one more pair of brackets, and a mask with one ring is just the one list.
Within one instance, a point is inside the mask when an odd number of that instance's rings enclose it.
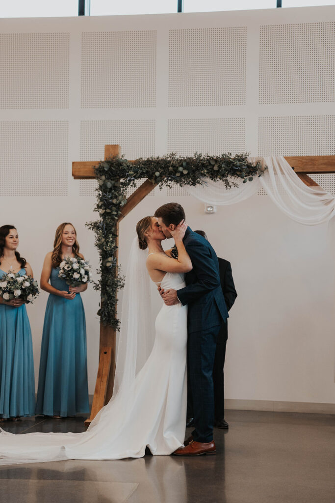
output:
{"label": "navy suit sleeve of the groom's arm holding the bride's waist", "polygon": [[186,251],[196,271],[197,281],[177,291],[178,299],[183,305],[195,301],[220,286],[215,262],[209,249],[198,241],[191,241],[187,243]]}

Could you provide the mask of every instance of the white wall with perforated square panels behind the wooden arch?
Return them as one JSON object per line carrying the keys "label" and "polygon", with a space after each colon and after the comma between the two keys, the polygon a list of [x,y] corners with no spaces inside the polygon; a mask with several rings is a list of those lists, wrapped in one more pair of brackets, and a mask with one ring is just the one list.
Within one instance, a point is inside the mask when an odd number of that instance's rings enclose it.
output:
{"label": "white wall with perforated square panels behind the wooden arch", "polygon": [[[0,222],[17,226],[35,275],[65,220],[98,266],[84,227],[96,218],[94,183],[73,180],[71,161],[98,160],[105,143],[120,143],[128,158],[335,154],[334,19],[333,7],[1,19]],[[333,190],[333,177],[318,180]],[[171,200],[232,263],[239,296],[227,398],[334,403],[327,226],[292,222],[267,196],[206,215],[181,189],[156,189],[121,223],[124,271],[137,220]],[[93,393],[98,294],[90,288],[82,297]],[[28,306],[36,376],[46,299],[42,292]]]}

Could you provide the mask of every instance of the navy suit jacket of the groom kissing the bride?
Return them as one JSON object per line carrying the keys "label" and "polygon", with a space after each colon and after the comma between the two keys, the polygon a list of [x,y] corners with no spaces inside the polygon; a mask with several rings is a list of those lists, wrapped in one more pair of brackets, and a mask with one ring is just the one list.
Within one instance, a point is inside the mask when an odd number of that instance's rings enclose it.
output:
{"label": "navy suit jacket of the groom kissing the bride", "polygon": [[205,331],[229,317],[218,260],[209,241],[189,227],[183,242],[193,269],[185,274],[186,287],[178,290],[177,296],[183,305],[188,305],[188,333]]}

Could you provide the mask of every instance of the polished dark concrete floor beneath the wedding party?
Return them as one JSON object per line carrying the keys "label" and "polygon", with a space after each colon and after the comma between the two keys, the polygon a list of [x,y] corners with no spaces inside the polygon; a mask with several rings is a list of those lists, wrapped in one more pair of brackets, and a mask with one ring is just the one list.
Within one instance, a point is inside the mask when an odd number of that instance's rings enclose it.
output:
{"label": "polished dark concrete floor beneath the wedding party", "polygon": [[[335,416],[227,411],[216,456],[147,455],[0,467],[4,503],[334,503]],[[83,418],[2,423],[13,433],[83,431]],[[186,432],[189,433],[189,432]]]}

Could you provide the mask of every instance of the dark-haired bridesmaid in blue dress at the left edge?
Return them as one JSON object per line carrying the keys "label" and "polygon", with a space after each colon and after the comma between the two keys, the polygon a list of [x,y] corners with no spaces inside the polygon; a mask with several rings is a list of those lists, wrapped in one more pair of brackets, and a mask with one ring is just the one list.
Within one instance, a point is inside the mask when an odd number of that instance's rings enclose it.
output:
{"label": "dark-haired bridesmaid in blue dress at the left edge", "polygon": [[[7,274],[33,271],[20,257],[14,225],[0,227],[0,281]],[[0,422],[34,415],[35,378],[32,334],[23,300],[0,297]]]}

